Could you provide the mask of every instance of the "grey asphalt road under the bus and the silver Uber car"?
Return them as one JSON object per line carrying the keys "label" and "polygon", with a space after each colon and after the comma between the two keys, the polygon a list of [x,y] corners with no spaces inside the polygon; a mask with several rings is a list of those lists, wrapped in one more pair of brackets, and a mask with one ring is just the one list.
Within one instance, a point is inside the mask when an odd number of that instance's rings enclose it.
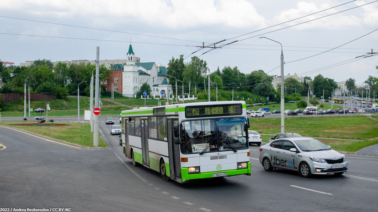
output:
{"label": "grey asphalt road under the bus and the silver Uber car", "polygon": [[[266,172],[252,145],[251,176],[179,184],[132,166],[106,117],[110,149],[81,149],[0,127],[0,202],[5,208],[71,211],[376,211],[378,157],[347,155],[349,172],[302,178]],[[313,189],[319,193],[301,188]],[[332,194],[332,195],[331,195]]]}

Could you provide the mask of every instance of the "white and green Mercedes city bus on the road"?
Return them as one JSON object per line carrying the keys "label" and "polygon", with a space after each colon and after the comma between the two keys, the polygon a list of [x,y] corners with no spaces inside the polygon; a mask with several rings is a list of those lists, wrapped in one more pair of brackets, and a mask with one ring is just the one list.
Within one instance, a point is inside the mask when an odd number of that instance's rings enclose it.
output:
{"label": "white and green Mercedes city bus on the road", "polygon": [[244,101],[139,107],[121,118],[124,156],[166,181],[251,175]]}

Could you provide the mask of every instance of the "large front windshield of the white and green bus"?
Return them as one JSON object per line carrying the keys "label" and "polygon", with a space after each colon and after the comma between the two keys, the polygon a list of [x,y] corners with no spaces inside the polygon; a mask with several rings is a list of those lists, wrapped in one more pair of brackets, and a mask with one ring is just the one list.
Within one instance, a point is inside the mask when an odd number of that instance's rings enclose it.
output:
{"label": "large front windshield of the white and green bus", "polygon": [[[184,154],[237,151],[248,148],[243,118],[181,122],[181,151]],[[243,135],[243,136],[242,136]]]}

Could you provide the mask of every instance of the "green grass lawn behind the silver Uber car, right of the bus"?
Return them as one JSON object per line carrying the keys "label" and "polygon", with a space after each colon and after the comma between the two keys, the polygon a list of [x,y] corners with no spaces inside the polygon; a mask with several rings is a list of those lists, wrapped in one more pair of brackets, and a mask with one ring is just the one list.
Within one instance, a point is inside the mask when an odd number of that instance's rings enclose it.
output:
{"label": "green grass lawn behind the silver Uber car, right of the bus", "polygon": [[[268,134],[281,132],[280,118],[250,118],[249,122],[249,130]],[[378,123],[366,116],[293,117],[285,118],[285,132],[313,137],[372,139],[378,137]]]}

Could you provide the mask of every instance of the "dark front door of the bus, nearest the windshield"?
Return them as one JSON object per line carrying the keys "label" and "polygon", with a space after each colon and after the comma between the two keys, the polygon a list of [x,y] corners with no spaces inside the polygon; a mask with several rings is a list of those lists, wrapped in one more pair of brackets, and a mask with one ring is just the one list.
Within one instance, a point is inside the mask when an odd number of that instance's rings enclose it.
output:
{"label": "dark front door of the bus, nearest the windshield", "polygon": [[181,182],[180,145],[175,144],[178,119],[168,119],[168,153],[170,178]]}

